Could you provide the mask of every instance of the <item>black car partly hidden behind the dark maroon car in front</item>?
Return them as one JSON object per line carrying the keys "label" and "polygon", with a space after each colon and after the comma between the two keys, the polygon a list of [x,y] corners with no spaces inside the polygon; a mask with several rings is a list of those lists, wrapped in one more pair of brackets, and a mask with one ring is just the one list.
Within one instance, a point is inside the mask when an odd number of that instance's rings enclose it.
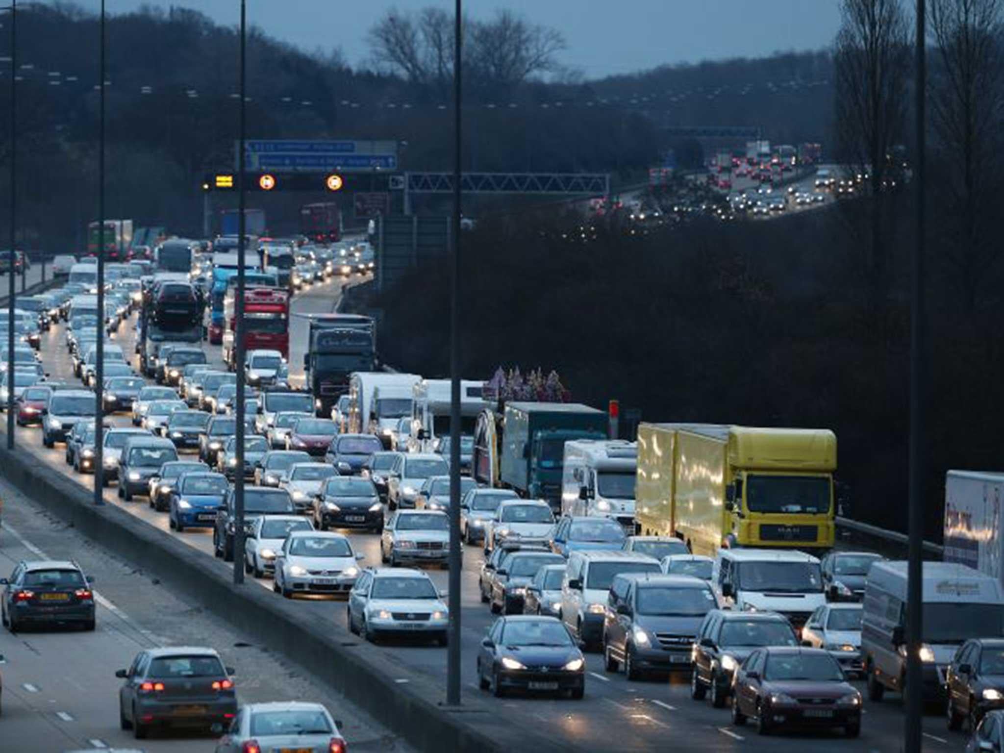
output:
{"label": "black car partly hidden behind the dark maroon car in front", "polygon": [[709,611],[694,644],[691,698],[701,701],[710,691],[711,705],[725,706],[739,665],[763,646],[798,646],[795,631],[784,615],[773,611]]}

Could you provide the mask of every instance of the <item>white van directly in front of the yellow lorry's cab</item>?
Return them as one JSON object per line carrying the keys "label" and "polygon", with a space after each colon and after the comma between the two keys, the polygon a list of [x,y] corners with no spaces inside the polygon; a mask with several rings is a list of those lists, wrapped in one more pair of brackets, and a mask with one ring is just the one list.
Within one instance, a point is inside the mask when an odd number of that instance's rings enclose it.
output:
{"label": "white van directly in front of the yellow lorry's cab", "polygon": [[711,576],[726,604],[776,611],[796,632],[826,603],[819,560],[801,551],[719,549]]}

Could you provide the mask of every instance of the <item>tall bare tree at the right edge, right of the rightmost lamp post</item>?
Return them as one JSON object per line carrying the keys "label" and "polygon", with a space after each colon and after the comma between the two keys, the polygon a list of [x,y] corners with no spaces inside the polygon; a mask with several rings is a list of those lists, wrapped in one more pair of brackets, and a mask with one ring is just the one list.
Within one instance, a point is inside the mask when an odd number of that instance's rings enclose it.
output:
{"label": "tall bare tree at the right edge, right of the rightmost lamp post", "polygon": [[946,247],[968,307],[997,255],[1001,186],[998,130],[1004,109],[1002,0],[932,0],[931,30],[940,65],[931,79],[931,121],[950,222]]}

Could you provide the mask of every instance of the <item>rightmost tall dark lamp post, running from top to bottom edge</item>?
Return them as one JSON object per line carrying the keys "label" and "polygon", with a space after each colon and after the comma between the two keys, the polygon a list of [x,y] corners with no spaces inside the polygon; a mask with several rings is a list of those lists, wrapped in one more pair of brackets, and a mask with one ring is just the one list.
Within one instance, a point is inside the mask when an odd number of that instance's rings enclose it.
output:
{"label": "rightmost tall dark lamp post, running from top to bottom edge", "polygon": [[924,608],[922,601],[924,577],[924,472],[925,472],[925,432],[924,399],[926,373],[925,351],[925,307],[924,307],[924,235],[925,223],[925,110],[927,108],[927,21],[925,0],[917,0],[917,33],[915,38],[917,55],[917,85],[915,93],[915,127],[917,129],[917,170],[914,171],[914,211],[917,223],[917,240],[914,248],[913,279],[911,280],[910,306],[910,515],[908,531],[910,543],[907,559],[907,715],[904,743],[907,753],[920,753],[921,722],[924,713],[921,664],[921,646],[924,640]]}

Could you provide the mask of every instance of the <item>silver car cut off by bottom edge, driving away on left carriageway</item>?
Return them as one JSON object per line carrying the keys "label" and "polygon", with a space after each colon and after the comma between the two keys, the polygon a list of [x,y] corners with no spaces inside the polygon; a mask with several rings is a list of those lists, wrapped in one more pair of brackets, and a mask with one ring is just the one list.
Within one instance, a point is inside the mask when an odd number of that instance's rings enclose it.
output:
{"label": "silver car cut off by bottom edge, driving away on left carriageway", "polygon": [[320,704],[246,704],[216,744],[216,753],[248,750],[345,753],[338,725]]}

